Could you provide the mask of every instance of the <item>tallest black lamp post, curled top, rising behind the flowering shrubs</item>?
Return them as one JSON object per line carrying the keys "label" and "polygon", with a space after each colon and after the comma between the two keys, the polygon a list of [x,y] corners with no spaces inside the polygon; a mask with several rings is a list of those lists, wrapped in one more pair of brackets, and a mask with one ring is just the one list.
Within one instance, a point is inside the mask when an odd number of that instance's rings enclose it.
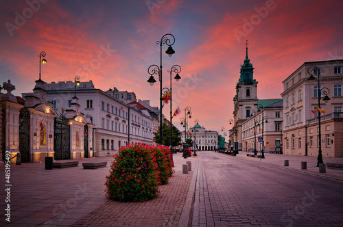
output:
{"label": "tallest black lamp post, curled top, rising behind the flowering shrubs", "polygon": [[[171,40],[170,40],[171,38]],[[156,82],[156,80],[154,79],[154,74],[158,73],[158,81],[160,81],[160,144],[162,144],[162,121],[163,121],[163,116],[162,116],[162,45],[163,44],[167,44],[168,49],[167,51],[165,51],[165,53],[167,53],[167,55],[169,55],[169,57],[171,57],[171,55],[173,55],[175,53],[175,51],[173,50],[173,48],[171,47],[175,42],[175,37],[171,34],[165,34],[164,36],[162,36],[160,41],[156,41],[156,44],[160,45],[160,68],[158,68],[158,70],[156,70],[156,68],[154,68],[152,70],[152,74],[150,73],[150,68],[151,67],[155,67],[156,65],[151,65],[148,69],[147,72],[149,72],[150,77],[147,80],[148,83],[150,83],[150,85],[154,85],[154,83]]]}

